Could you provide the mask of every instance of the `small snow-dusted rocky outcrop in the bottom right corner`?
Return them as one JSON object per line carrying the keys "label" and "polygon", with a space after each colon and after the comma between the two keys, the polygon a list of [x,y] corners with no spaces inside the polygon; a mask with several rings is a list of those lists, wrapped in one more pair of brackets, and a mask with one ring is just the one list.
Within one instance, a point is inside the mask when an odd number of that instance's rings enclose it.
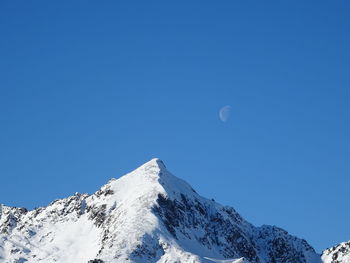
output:
{"label": "small snow-dusted rocky outcrop in the bottom right corner", "polygon": [[340,243],[323,251],[322,260],[324,263],[349,263],[350,241]]}

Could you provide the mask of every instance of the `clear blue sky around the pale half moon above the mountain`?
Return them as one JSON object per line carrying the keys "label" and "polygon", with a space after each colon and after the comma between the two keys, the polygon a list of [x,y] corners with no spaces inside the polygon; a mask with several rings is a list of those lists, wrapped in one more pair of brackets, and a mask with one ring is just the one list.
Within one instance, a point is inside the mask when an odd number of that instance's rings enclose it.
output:
{"label": "clear blue sky around the pale half moon above the mountain", "polygon": [[159,157],[254,224],[318,251],[349,240],[349,14],[346,0],[1,1],[0,202],[92,193]]}

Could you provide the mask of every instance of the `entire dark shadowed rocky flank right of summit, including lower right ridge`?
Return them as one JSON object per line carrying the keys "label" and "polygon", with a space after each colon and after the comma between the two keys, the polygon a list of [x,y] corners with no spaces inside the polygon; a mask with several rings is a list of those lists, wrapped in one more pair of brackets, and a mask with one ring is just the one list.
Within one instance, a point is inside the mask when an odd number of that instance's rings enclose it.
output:
{"label": "entire dark shadowed rocky flank right of summit, including lower right ridge", "polygon": [[244,257],[252,263],[306,263],[317,258],[305,240],[278,227],[256,228],[233,208],[188,200],[184,195],[181,200],[159,195],[157,202],[155,212],[179,242],[195,238],[198,244],[219,250],[225,258]]}

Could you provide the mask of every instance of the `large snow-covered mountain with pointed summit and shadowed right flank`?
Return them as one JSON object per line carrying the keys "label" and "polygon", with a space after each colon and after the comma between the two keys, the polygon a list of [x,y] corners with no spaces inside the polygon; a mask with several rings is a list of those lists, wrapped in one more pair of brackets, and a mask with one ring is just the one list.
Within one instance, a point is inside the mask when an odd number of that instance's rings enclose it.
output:
{"label": "large snow-covered mountain with pointed summit and shadowed right flank", "polygon": [[[327,251],[325,263],[350,262],[349,250]],[[0,206],[0,262],[320,263],[321,257],[305,240],[275,226],[255,227],[201,197],[153,159],[92,195],[32,211]]]}

